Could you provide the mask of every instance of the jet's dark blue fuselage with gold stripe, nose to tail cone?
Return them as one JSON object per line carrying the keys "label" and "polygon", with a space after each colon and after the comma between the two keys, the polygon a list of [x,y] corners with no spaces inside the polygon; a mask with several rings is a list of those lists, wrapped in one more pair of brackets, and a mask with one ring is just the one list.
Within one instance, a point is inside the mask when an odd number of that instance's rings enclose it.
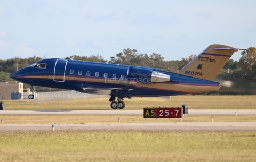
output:
{"label": "jet's dark blue fuselage with gold stripe, nose to tail cone", "polygon": [[10,75],[32,86],[43,86],[125,97],[173,96],[219,89],[219,83],[151,67],[43,59]]}

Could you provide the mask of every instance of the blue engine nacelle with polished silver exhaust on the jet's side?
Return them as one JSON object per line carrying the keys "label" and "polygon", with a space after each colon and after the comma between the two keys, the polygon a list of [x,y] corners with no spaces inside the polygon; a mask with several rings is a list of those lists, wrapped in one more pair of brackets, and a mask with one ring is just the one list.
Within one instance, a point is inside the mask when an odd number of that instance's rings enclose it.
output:
{"label": "blue engine nacelle with polished silver exhaust on the jet's side", "polygon": [[171,76],[149,67],[130,66],[127,72],[127,79],[137,83],[151,84],[156,82],[169,82]]}

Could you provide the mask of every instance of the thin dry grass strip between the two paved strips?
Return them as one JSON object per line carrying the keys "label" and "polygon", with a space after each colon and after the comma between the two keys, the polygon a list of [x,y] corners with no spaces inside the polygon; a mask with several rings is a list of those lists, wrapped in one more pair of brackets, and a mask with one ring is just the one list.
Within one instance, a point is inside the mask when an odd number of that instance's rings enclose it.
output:
{"label": "thin dry grass strip between the two paved strips", "polygon": [[[210,115],[188,115],[180,118],[147,118],[142,115],[1,115],[4,124],[54,124],[54,123],[152,123],[152,122],[211,122]],[[214,122],[255,122],[256,115],[214,116]]]}

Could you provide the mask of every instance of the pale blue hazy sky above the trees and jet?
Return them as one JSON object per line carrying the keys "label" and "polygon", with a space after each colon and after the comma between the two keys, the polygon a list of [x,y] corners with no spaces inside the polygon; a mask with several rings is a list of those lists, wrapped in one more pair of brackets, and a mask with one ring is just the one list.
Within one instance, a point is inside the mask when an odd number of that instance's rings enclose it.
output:
{"label": "pale blue hazy sky above the trees and jet", "polygon": [[256,47],[255,15],[254,0],[0,0],[0,59],[108,60],[131,48],[171,61],[212,44],[247,49]]}

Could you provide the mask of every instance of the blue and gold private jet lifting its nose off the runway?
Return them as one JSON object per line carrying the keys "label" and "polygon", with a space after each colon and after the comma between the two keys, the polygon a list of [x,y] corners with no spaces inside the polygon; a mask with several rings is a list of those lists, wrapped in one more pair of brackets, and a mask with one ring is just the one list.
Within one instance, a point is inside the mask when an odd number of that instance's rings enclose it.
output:
{"label": "blue and gold private jet lifting its nose off the runway", "polygon": [[[73,58],[46,58],[10,75],[29,84],[34,99],[35,86],[109,95],[112,109],[123,109],[124,98],[160,97],[216,91],[213,81],[228,59],[238,50],[226,45],[210,45],[181,70],[163,71],[153,67],[77,61]],[[117,99],[116,99],[117,98]]]}

